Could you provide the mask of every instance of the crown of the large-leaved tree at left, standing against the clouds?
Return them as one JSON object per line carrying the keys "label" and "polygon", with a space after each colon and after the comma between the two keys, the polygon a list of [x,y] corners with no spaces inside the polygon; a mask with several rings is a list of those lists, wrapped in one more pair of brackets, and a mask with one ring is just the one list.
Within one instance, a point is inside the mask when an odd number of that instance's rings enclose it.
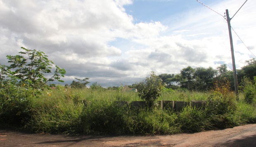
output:
{"label": "crown of the large-leaved tree at left, standing against the clouds", "polygon": [[66,71],[55,65],[55,71],[49,79],[44,74],[52,73],[52,64],[45,53],[21,47],[24,51],[19,53],[24,55],[7,55],[8,62],[11,63],[7,68],[14,77],[19,79],[20,84],[26,84],[33,89],[40,89],[44,84],[51,81],[64,82],[60,77],[64,77]]}

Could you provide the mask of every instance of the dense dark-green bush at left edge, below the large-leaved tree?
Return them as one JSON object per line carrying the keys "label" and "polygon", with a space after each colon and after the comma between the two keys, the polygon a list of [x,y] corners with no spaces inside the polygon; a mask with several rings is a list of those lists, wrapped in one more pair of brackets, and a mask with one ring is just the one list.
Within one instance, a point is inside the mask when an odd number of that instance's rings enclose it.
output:
{"label": "dense dark-green bush at left edge, below the large-leaved tree", "polygon": [[10,82],[0,86],[0,124],[24,125],[33,114],[33,89]]}

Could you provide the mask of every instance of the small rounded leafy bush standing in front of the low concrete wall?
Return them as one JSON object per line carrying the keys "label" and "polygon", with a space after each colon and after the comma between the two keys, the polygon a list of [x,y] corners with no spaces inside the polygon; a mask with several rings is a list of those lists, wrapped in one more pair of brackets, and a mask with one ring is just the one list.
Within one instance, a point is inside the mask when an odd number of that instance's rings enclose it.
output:
{"label": "small rounded leafy bush standing in front of the low concrete wall", "polygon": [[152,107],[154,101],[161,96],[161,79],[151,72],[142,82],[137,83],[137,93],[142,100],[146,100],[148,107]]}

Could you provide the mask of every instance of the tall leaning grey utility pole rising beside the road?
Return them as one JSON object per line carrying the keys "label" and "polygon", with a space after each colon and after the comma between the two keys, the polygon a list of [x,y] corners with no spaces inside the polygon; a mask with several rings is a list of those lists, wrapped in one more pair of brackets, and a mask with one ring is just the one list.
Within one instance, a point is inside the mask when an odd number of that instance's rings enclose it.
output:
{"label": "tall leaning grey utility pole rising beside the road", "polygon": [[233,47],[231,25],[230,25],[230,20],[232,18],[230,19],[230,17],[229,17],[228,9],[226,9],[226,16],[227,16],[227,21],[228,21],[228,32],[229,32],[229,39],[230,39],[233,72],[234,72],[235,95],[236,95],[236,99],[239,100],[239,96],[238,96],[238,82],[237,82],[237,71],[236,71],[236,68],[235,68],[235,55],[234,55],[234,47]]}

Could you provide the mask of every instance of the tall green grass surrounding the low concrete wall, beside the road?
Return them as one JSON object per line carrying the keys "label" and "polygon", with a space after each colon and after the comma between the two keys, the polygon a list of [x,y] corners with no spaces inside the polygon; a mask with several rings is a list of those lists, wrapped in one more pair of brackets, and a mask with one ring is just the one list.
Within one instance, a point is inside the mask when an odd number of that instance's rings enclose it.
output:
{"label": "tall green grass surrounding the low concrete wall, beside the road", "polygon": [[[226,97],[225,97],[226,96]],[[99,89],[45,90],[31,101],[30,119],[23,128],[60,134],[175,134],[229,128],[256,122],[255,103],[239,102],[231,95],[173,91],[158,100],[211,100],[202,109],[187,106],[181,112],[154,108],[132,109],[115,101],[141,100],[135,92]]]}

